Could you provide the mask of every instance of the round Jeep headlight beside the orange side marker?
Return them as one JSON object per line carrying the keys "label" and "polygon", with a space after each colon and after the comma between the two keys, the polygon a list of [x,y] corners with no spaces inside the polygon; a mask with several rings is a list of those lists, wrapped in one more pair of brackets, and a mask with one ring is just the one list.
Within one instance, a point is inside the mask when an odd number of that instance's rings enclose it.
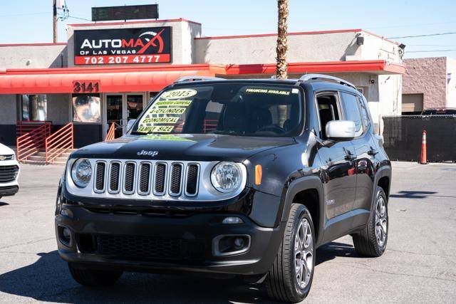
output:
{"label": "round Jeep headlight beside the orange side marker", "polygon": [[212,186],[219,192],[233,192],[242,182],[242,171],[235,162],[219,162],[211,172]]}

